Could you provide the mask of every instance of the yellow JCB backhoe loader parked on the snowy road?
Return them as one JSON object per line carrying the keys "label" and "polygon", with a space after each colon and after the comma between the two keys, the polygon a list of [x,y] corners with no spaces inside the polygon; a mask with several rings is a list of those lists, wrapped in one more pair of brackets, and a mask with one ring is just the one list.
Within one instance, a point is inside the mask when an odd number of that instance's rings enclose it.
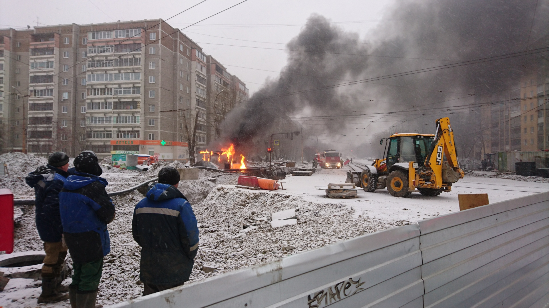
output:
{"label": "yellow JCB backhoe loader parked on the snowy road", "polygon": [[401,133],[385,141],[384,158],[376,159],[361,173],[364,191],[387,187],[391,195],[407,197],[417,189],[424,196],[438,196],[463,179],[447,117],[436,120],[434,135]]}

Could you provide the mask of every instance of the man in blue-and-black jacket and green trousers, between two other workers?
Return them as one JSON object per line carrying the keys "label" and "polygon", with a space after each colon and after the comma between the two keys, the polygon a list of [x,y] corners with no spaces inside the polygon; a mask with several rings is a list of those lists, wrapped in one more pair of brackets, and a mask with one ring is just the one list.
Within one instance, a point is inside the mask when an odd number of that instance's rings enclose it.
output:
{"label": "man in blue-and-black jacket and green trousers, between two other workers", "polygon": [[75,174],[69,175],[59,193],[63,235],[72,258],[72,307],[94,308],[103,270],[103,256],[110,252],[107,224],[114,219],[114,204],[107,195],[107,180],[92,151],[74,159]]}

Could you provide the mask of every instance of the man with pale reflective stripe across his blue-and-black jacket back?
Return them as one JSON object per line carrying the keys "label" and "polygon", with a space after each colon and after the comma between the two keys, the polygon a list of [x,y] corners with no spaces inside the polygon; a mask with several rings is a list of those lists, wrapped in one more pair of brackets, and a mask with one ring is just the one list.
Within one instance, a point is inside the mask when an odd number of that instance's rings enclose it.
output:
{"label": "man with pale reflective stripe across his blue-and-black jacket back", "polygon": [[198,250],[198,227],[191,204],[177,189],[179,172],[164,167],[158,184],[133,211],[133,239],[141,246],[143,295],[189,280]]}

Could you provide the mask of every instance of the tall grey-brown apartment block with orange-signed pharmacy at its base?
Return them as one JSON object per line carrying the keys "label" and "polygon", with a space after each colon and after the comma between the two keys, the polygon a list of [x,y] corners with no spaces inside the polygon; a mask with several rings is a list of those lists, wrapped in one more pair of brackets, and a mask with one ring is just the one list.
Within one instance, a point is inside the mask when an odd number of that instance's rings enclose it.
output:
{"label": "tall grey-brown apartment block with orange-signed pharmacy at its base", "polygon": [[197,147],[209,140],[207,66],[160,19],[0,30],[3,150],[186,160],[194,126]]}

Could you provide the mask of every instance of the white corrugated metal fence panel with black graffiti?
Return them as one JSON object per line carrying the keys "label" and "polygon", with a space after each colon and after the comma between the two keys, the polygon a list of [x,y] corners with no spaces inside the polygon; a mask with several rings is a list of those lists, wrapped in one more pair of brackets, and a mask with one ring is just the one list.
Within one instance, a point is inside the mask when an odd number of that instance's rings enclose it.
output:
{"label": "white corrugated metal fence panel with black graffiti", "polygon": [[379,231],[115,307],[423,307],[417,225]]}

